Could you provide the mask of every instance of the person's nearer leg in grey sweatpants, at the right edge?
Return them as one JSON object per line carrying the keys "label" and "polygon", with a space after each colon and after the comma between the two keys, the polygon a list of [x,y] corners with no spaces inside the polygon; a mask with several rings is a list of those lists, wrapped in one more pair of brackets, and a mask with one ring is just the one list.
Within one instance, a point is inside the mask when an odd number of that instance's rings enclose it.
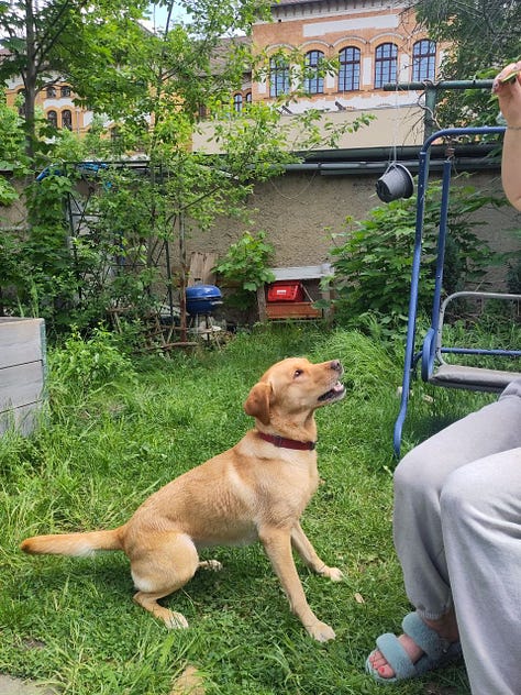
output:
{"label": "person's nearer leg in grey sweatpants, at the right edge", "polygon": [[[518,427],[521,430],[521,420]],[[519,694],[521,448],[453,473],[442,492],[441,510],[473,695]]]}

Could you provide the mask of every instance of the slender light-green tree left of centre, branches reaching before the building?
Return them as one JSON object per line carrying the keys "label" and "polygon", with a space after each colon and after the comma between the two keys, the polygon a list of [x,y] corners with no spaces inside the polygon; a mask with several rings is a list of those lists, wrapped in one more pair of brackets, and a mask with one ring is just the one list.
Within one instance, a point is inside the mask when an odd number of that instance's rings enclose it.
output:
{"label": "slender light-green tree left of centre, branches reaching before the building", "polygon": [[[187,4],[187,11],[192,19],[186,25],[170,26],[167,21],[160,35],[144,35],[130,47],[125,71],[141,85],[141,91],[132,95],[126,90],[124,103],[118,106],[113,90],[107,89],[102,79],[96,86],[98,99],[100,93],[107,96],[106,112],[115,119],[119,109],[121,115],[115,143],[101,140],[99,147],[112,151],[112,155],[114,146],[119,152],[138,147],[149,162],[151,178],[132,195],[132,207],[141,200],[143,212],[132,218],[146,218],[145,227],[154,238],[178,242],[176,279],[181,302],[188,272],[185,240],[192,229],[209,230],[219,216],[231,214],[243,216],[250,228],[244,201],[254,181],[281,173],[286,163],[297,161],[295,151],[335,144],[341,130],[356,130],[368,121],[361,117],[344,129],[325,128],[324,137],[319,111],[302,114],[299,124],[291,126],[281,125],[280,104],[248,104],[237,113],[231,95],[241,89],[245,71],[255,62],[250,44],[237,32],[251,30],[254,11],[262,12],[263,5],[257,1],[200,0]],[[201,107],[212,117],[219,154],[191,150]],[[299,136],[293,140],[296,132]],[[125,199],[121,185],[118,195]],[[101,206],[112,210],[113,221],[114,188],[104,195]],[[129,220],[129,205],[120,209]],[[120,217],[119,221],[121,230],[125,220]],[[135,244],[130,243],[131,247]]]}

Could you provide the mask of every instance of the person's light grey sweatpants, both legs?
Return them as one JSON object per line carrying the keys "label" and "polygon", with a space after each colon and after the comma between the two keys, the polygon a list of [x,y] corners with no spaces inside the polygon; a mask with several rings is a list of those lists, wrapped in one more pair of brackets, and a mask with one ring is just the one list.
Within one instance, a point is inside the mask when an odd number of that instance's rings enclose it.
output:
{"label": "person's light grey sweatpants, both legs", "polygon": [[521,695],[521,379],[403,456],[395,545],[411,604],[454,608],[474,695]]}

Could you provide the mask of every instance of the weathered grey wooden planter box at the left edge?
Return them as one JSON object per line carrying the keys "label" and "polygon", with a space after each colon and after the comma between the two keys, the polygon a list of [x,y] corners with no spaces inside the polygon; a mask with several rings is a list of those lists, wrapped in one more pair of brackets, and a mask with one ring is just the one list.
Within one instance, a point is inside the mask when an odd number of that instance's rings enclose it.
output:
{"label": "weathered grey wooden planter box at the left edge", "polygon": [[45,355],[43,319],[0,318],[0,435],[33,431],[45,398]]}

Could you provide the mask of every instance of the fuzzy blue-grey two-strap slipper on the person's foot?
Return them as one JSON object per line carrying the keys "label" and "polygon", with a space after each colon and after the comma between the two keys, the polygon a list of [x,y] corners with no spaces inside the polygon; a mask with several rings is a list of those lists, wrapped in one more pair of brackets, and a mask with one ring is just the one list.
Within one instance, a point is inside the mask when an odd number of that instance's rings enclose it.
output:
{"label": "fuzzy blue-grey two-strap slipper on the person's foot", "polygon": [[[384,654],[395,675],[391,679],[381,677],[370,665],[369,659],[367,659],[365,669],[378,683],[397,683],[398,681],[415,679],[428,671],[448,665],[462,658],[459,642],[448,642],[448,640],[439,637],[434,630],[423,622],[417,613],[408,614],[403,618],[401,627],[403,628],[403,633],[408,635],[424,654],[413,663],[396,635],[390,632],[380,635],[376,640],[376,646],[378,651]],[[370,655],[374,653],[372,652]]]}

